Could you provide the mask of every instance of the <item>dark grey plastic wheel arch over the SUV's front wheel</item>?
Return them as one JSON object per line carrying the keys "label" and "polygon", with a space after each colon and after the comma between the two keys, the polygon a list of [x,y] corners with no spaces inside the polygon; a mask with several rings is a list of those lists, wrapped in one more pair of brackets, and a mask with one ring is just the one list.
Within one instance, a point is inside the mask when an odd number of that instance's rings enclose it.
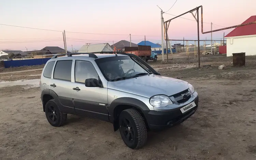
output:
{"label": "dark grey plastic wheel arch over the SUV's front wheel", "polygon": [[129,108],[137,110],[142,115],[148,128],[147,119],[143,111],[149,111],[150,109],[145,105],[145,103],[136,98],[122,97],[115,99],[109,106],[109,118],[110,121],[113,122],[114,131],[119,128],[118,117],[120,113]]}

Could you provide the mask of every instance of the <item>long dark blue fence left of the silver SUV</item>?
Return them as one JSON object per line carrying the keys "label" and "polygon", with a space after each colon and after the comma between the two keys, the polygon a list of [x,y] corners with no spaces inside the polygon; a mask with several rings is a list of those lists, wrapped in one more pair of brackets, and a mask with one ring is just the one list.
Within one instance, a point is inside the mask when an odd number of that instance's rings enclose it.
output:
{"label": "long dark blue fence left of the silver SUV", "polygon": [[4,61],[4,68],[45,64],[51,58]]}

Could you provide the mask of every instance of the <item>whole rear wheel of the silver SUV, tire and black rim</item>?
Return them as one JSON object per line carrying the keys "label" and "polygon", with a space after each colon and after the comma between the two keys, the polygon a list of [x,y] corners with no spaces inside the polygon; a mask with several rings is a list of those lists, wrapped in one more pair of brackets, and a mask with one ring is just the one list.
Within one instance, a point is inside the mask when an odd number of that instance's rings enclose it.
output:
{"label": "whole rear wheel of the silver SUV, tire and black rim", "polygon": [[54,99],[49,100],[45,105],[45,115],[49,122],[54,127],[62,126],[67,119],[67,114],[64,114],[59,109],[57,102]]}

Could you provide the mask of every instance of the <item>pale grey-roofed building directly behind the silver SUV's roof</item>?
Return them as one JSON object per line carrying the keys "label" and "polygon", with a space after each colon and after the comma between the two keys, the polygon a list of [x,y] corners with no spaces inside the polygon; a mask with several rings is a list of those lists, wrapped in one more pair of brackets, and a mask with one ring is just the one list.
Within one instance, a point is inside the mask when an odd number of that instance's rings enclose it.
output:
{"label": "pale grey-roofed building directly behind the silver SUV's roof", "polygon": [[108,43],[101,43],[101,44],[88,44],[83,45],[79,51],[80,53],[87,53],[87,52],[113,52],[113,49]]}

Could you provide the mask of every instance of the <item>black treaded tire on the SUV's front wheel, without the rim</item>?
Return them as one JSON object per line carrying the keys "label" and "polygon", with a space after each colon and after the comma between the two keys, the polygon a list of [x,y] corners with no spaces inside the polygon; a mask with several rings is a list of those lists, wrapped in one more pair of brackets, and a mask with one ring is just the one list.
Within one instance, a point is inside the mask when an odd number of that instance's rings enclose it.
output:
{"label": "black treaded tire on the SUV's front wheel, without the rim", "polygon": [[[131,126],[133,128],[134,139],[132,143],[126,143],[124,133],[120,129],[122,118],[127,118],[130,121]],[[120,113],[119,130],[120,130],[121,137],[124,140],[124,143],[132,149],[141,148],[147,141],[147,128],[146,128],[144,118],[135,109],[126,109]]]}

